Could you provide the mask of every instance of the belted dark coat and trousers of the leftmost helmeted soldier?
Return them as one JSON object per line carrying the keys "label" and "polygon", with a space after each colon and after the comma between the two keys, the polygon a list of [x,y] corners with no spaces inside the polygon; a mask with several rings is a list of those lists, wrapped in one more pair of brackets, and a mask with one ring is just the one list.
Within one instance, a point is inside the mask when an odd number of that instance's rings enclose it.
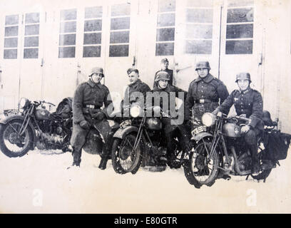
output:
{"label": "belted dark coat and trousers of the leftmost helmeted soldier", "polygon": [[[80,165],[81,149],[89,132],[89,129],[81,128],[80,123],[86,120],[89,125],[95,124],[96,120],[93,120],[92,115],[99,112],[108,117],[111,114],[108,105],[111,103],[109,90],[101,83],[96,84],[89,79],[85,83],[81,83],[76,89],[73,96],[73,133],[71,137],[73,165]],[[104,108],[101,110],[103,104]],[[106,137],[106,135],[104,136]],[[104,140],[106,141],[106,139]]]}

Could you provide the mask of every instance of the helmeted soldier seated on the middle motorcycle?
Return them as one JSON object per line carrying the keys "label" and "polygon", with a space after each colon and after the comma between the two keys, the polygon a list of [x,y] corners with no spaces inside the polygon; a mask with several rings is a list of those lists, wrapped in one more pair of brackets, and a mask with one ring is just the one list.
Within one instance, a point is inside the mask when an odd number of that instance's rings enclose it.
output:
{"label": "helmeted soldier seated on the middle motorcycle", "polygon": [[[152,90],[152,98],[147,97],[147,100],[146,100],[147,107],[158,105],[158,106],[155,106],[155,108],[159,107],[160,109],[163,110],[164,113],[167,113],[168,115],[170,115],[170,118],[168,117],[162,118],[163,131],[165,134],[166,147],[167,147],[167,158],[165,158],[165,160],[168,160],[168,164],[169,162],[175,160],[173,138],[178,136],[182,150],[186,149],[186,146],[188,145],[188,142],[190,141],[190,135],[189,135],[190,129],[188,129],[187,126],[183,124],[184,112],[185,112],[184,103],[183,105],[181,105],[178,115],[176,116],[178,117],[178,119],[176,117],[173,118],[173,113],[175,113],[175,98],[183,99],[183,102],[184,102],[187,92],[185,92],[184,90],[176,86],[170,86],[169,81],[170,81],[170,76],[167,72],[165,71],[158,72],[155,78],[157,87],[153,88]],[[183,97],[180,97],[180,95],[183,95]],[[163,98],[166,98],[166,99],[163,99]],[[154,100],[158,100],[159,103],[156,104],[156,101]],[[183,117],[182,121],[177,121],[177,122],[171,121],[173,119],[180,120],[179,115],[182,115]]]}

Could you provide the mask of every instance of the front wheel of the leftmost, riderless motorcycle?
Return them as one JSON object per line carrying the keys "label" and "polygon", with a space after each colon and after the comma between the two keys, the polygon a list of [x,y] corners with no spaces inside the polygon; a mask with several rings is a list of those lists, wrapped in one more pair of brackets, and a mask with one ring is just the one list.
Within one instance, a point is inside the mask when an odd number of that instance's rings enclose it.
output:
{"label": "front wheel of the leftmost, riderless motorcycle", "polygon": [[[33,147],[34,134],[30,126],[26,128],[24,137],[19,142],[12,142],[17,137],[15,130],[20,130],[22,123],[22,120],[11,120],[6,125],[1,125],[0,150],[8,157],[22,157]],[[19,151],[14,151],[16,147],[19,147]]]}

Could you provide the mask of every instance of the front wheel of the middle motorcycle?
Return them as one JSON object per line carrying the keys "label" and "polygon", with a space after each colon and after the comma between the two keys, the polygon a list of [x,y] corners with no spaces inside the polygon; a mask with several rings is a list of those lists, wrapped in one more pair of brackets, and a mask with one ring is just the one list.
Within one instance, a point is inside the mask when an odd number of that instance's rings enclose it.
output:
{"label": "front wheel of the middle motorcycle", "polygon": [[126,135],[122,140],[119,138],[113,140],[111,159],[116,173],[138,172],[141,166],[142,146],[139,142],[136,150],[133,150],[135,140],[136,135],[133,133]]}

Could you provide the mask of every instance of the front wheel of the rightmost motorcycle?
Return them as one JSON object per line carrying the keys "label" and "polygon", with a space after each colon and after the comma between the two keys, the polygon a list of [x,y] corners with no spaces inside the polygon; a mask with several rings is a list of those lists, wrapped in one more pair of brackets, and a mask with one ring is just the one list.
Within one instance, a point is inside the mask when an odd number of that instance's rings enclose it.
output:
{"label": "front wheel of the rightmost motorcycle", "polygon": [[210,142],[193,144],[188,160],[184,165],[184,174],[190,185],[200,188],[202,185],[211,186],[218,177],[220,164],[218,152],[209,155]]}

